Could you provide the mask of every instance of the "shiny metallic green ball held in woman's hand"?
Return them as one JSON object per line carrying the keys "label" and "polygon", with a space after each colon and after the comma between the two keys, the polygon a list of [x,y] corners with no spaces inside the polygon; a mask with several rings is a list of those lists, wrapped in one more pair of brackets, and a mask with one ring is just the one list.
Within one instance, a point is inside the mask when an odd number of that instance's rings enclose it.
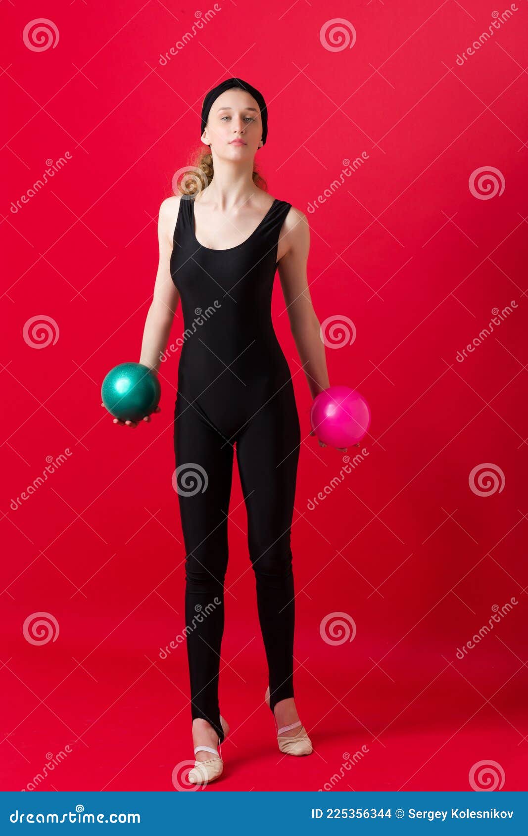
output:
{"label": "shiny metallic green ball held in woman's hand", "polygon": [[120,363],[103,380],[101,398],[120,421],[141,421],[160,401],[157,375],[142,363]]}

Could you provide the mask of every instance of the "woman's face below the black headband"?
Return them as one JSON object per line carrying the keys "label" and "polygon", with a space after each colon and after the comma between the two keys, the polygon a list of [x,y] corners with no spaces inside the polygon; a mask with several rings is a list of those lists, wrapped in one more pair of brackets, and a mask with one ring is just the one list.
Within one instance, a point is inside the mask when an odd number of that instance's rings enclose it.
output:
{"label": "woman's face below the black headband", "polygon": [[239,160],[254,156],[261,139],[262,120],[253,96],[245,90],[224,90],[209,110],[202,142],[223,159]]}

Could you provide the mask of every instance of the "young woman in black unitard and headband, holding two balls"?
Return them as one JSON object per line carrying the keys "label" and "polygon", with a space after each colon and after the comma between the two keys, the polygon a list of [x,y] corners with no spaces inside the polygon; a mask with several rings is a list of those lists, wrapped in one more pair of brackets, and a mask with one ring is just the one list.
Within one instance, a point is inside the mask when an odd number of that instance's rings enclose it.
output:
{"label": "young woman in black unitard and headband, holding two balls", "polygon": [[218,670],[235,444],[269,669],[264,699],[280,751],[312,751],[293,687],[290,528],[301,435],[290,369],[271,320],[277,268],[310,395],[330,384],[306,278],[305,214],[260,188],[254,171],[267,135],[264,98],[247,82],[226,79],[206,95],[201,139],[210,150],[197,169],[208,185],[161,204],[160,262],[141,346],[140,362],[157,372],[181,298],[174,448],[186,548],[192,783],[220,775],[217,747],[229,728],[218,707]]}

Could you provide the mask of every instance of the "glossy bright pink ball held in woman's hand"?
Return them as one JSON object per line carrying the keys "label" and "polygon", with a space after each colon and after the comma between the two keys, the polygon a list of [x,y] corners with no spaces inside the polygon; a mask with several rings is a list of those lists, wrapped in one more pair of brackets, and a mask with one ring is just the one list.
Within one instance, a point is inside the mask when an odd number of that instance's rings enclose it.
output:
{"label": "glossy bright pink ball held in woman's hand", "polygon": [[371,424],[365,398],[348,386],[329,386],[316,395],[310,410],[315,435],[332,447],[348,447],[361,441]]}

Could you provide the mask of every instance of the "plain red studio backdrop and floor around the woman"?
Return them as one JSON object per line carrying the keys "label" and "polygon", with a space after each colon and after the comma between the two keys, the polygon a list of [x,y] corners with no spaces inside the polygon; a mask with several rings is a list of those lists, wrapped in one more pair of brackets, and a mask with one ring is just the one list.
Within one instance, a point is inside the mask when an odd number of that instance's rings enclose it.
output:
{"label": "plain red studio backdrop and floor around the woman", "polygon": [[[192,32],[195,6],[2,5],[3,788],[29,788],[66,745],[38,788],[173,791],[173,768],[192,758],[185,647],[159,657],[184,625],[171,482],[179,355],[161,366],[161,413],[136,431],[113,425],[100,385],[139,359],[159,205],[199,143],[203,95],[238,74],[269,104],[257,156],[269,191],[310,220],[320,322],[348,317],[356,328],[352,343],[326,350],[331,383],[361,391],[372,426],[364,461],[308,510],[342,454],[309,437],[310,394],[276,277],[274,324],[303,430],[295,688],[315,752],[282,757],[263,703],[235,464],[220,675],[232,732],[208,791],[318,789],[336,773],[337,790],[466,790],[470,769],[490,760],[505,790],[525,789],[526,5],[462,66],[457,54],[495,6],[221,6],[162,66],[160,54]],[[23,28],[43,15],[59,42],[34,52]],[[341,17],[356,43],[331,51],[320,29]],[[71,160],[13,214],[11,201],[65,151]],[[363,151],[364,164],[309,212]],[[469,190],[481,166],[500,171],[500,196]],[[492,308],[512,300],[457,362]],[[56,323],[45,349],[23,338],[34,316]],[[178,309],[171,339],[181,333]],[[46,456],[66,448],[68,460],[13,510]],[[502,490],[470,489],[481,463],[504,474]],[[457,659],[512,596],[510,614]],[[23,623],[43,611],[59,635],[32,645]],[[321,620],[340,612],[355,638],[323,640]]]}

